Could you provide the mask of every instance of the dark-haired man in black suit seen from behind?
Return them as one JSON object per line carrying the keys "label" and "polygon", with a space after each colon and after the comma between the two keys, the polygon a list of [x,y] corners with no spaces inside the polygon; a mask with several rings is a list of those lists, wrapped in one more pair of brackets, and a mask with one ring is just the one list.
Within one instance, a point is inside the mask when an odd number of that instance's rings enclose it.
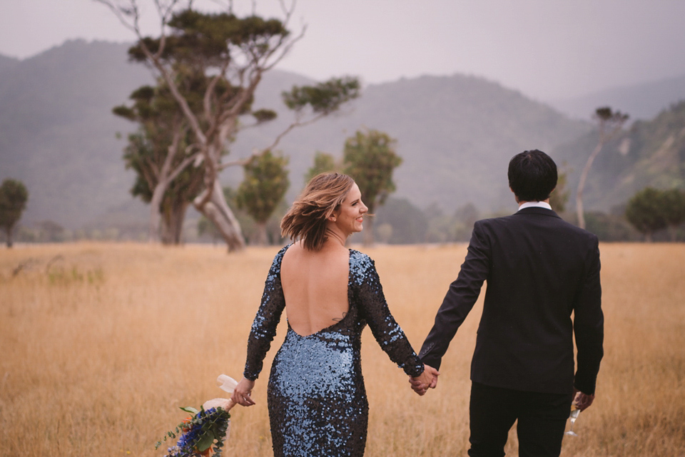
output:
{"label": "dark-haired man in black suit seen from behind", "polygon": [[[517,154],[508,175],[519,210],[475,223],[466,260],[419,355],[440,369],[487,281],[471,364],[469,455],[504,456],[518,420],[519,456],[559,456],[574,397],[581,411],[594,400],[603,354],[598,240],[549,206],[557,185],[549,155]],[[423,394],[428,386],[412,380],[412,388]]]}

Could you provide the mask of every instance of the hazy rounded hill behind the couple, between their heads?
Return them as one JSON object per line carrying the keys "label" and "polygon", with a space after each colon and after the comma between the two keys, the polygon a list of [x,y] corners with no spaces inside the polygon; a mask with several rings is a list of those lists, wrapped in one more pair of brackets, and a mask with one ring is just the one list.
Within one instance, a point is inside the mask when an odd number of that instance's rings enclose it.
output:
{"label": "hazy rounded hill behind the couple, between their heads", "polygon": [[[263,100],[265,106],[278,102],[258,93],[255,106]],[[245,130],[232,149],[267,146],[285,127],[288,113],[282,111],[280,118]],[[343,113],[294,130],[283,140],[280,148],[290,156],[293,187],[301,188],[315,151],[341,157],[345,138],[362,128],[385,131],[397,140],[404,160],[395,171],[397,196],[452,211],[467,202],[487,209],[509,204],[506,167],[514,153],[550,150],[586,133],[589,125],[472,76],[423,76],[367,86]],[[230,182],[239,180],[237,174]]]}

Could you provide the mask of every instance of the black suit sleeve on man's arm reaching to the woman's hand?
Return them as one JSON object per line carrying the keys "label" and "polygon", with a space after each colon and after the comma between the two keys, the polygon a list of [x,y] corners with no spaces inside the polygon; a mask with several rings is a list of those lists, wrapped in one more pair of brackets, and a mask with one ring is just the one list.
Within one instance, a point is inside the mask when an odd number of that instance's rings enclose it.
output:
{"label": "black suit sleeve on man's arm reaching to the woman's hand", "polygon": [[442,356],[478,299],[483,282],[490,272],[490,259],[489,242],[482,221],[479,221],[473,227],[466,259],[459,275],[450,284],[435,316],[435,324],[419,352],[423,363],[440,369]]}

